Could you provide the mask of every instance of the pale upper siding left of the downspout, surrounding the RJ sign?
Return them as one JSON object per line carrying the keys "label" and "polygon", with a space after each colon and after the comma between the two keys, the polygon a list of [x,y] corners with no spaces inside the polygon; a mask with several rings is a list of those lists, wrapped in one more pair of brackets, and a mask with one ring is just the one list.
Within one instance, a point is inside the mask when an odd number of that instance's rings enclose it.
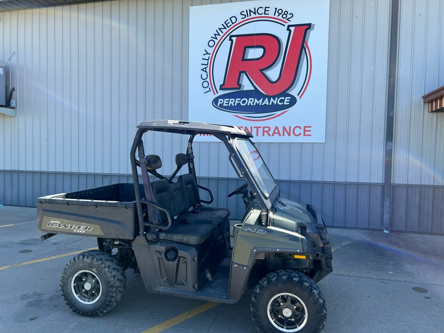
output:
{"label": "pale upper siding left of the downspout, surrounding the RJ sign", "polygon": [[[189,5],[210,2],[218,1],[121,0],[2,13],[11,36],[3,52],[18,52],[12,75],[19,106],[13,124],[2,122],[10,131],[4,167],[129,173],[139,121],[187,118]],[[326,143],[260,144],[277,179],[382,182],[389,2],[332,1]],[[146,141],[164,165],[185,147],[172,135]],[[19,162],[18,144],[29,161]],[[235,177],[221,144],[196,144],[197,152],[214,161],[201,176]]]}

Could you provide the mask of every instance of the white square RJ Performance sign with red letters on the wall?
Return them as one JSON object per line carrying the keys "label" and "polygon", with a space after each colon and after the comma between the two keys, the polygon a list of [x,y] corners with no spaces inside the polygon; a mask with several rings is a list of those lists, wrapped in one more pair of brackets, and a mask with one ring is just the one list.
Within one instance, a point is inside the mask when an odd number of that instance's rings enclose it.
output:
{"label": "white square RJ Performance sign with red letters on the wall", "polygon": [[324,142],[329,6],[191,7],[189,120],[237,125],[256,142]]}

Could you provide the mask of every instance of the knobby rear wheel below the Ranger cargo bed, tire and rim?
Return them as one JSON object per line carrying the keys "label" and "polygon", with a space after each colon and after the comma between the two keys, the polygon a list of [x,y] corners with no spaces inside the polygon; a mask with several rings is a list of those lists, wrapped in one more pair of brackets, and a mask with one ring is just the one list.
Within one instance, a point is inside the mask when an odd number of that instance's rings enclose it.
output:
{"label": "knobby rear wheel below the Ranger cargo bed, tire and rim", "polygon": [[83,252],[67,263],[60,287],[66,304],[82,316],[110,311],[125,291],[126,277],[117,260],[102,251]]}

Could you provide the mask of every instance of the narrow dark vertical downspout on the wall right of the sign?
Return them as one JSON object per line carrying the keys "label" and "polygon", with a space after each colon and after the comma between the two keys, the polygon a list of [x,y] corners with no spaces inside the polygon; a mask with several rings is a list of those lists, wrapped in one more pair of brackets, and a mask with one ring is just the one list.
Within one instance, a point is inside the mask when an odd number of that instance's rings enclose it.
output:
{"label": "narrow dark vertical downspout on the wall right of the sign", "polygon": [[393,127],[396,93],[396,67],[398,57],[398,26],[399,26],[399,0],[392,0],[390,17],[389,40],[389,66],[387,84],[387,109],[385,121],[385,167],[384,167],[384,206],[383,206],[383,230],[390,230],[392,169],[393,169]]}

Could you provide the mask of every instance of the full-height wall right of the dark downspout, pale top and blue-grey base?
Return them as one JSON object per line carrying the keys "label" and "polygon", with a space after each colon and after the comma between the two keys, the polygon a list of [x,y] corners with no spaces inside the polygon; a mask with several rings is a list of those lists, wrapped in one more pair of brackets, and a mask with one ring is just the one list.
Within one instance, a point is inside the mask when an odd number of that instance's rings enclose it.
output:
{"label": "full-height wall right of the dark downspout, pale top and blue-grey base", "polygon": [[444,233],[444,113],[421,96],[444,85],[444,3],[400,1],[392,227]]}

